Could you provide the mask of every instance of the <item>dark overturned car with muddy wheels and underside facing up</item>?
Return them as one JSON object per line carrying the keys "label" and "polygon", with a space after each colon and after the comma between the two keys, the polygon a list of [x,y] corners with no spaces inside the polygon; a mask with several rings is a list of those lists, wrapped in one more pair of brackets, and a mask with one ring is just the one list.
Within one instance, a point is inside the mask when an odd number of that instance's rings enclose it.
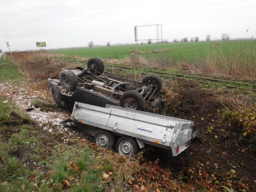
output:
{"label": "dark overturned car with muddy wheels and underside facing up", "polygon": [[59,107],[72,110],[75,102],[105,107],[106,104],[150,111],[162,103],[162,80],[148,74],[137,82],[104,72],[99,58],[88,60],[87,68],[62,69],[48,78],[52,96]]}

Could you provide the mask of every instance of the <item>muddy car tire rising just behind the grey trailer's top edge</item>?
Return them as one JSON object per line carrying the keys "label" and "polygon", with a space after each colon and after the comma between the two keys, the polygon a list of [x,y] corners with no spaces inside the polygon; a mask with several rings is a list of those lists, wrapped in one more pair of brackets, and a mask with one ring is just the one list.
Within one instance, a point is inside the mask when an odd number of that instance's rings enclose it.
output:
{"label": "muddy car tire rising just behind the grey trailer's top edge", "polygon": [[128,90],[120,97],[119,105],[124,108],[142,110],[144,99],[135,90]]}

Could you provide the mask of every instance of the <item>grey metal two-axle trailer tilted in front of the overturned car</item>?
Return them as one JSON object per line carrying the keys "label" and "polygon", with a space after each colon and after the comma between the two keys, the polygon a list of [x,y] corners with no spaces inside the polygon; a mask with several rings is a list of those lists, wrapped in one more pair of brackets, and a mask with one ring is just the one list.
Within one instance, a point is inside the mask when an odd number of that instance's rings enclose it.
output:
{"label": "grey metal two-axle trailer tilted in front of the overturned car", "polygon": [[[75,126],[94,136],[94,142],[124,156],[145,144],[177,156],[190,146],[194,122],[106,104],[106,108],[75,102],[70,117]],[[115,140],[118,139],[117,142]]]}

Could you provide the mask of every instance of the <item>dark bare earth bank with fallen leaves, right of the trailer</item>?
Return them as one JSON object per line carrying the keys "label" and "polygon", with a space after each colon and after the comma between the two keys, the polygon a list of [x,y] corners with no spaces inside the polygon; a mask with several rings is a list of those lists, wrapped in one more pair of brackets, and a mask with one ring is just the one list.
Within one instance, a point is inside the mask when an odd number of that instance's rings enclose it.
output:
{"label": "dark bare earth bank with fallen leaves, right of the trailer", "polygon": [[236,146],[230,127],[218,115],[224,108],[224,90],[209,90],[186,81],[165,85],[168,91],[162,113],[194,121],[201,139],[192,140],[190,148],[177,157],[166,150],[147,150],[146,160],[160,158],[159,165],[169,170],[173,179],[182,178],[195,189],[212,190],[216,185],[247,191],[255,188],[255,158]]}

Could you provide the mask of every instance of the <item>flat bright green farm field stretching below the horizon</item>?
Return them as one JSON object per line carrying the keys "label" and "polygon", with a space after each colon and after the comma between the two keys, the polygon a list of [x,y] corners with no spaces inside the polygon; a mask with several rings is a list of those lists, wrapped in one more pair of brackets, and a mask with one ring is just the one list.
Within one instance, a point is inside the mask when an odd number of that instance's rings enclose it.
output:
{"label": "flat bright green farm field stretching below the horizon", "polygon": [[[205,57],[210,52],[215,51],[218,54],[230,56],[234,52],[242,50],[256,50],[255,40],[232,40],[232,41],[210,41],[210,42],[182,42],[182,43],[164,43],[160,44],[160,50],[166,52],[154,52],[139,54],[144,57],[154,56],[156,58],[182,58],[190,59],[194,57]],[[80,57],[99,57],[99,58],[117,58],[122,59],[124,56],[131,56],[130,51],[135,50],[135,45],[110,45],[92,48],[67,48],[52,50],[56,54]],[[156,51],[156,44],[139,44],[139,51]]]}

